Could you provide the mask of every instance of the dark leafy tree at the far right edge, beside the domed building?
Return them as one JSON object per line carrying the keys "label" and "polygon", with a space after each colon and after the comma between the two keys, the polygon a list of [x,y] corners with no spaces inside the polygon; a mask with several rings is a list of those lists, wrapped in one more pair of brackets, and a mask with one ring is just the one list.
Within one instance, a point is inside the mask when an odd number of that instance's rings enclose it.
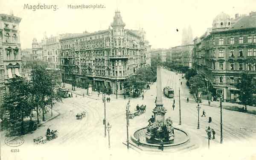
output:
{"label": "dark leafy tree at the far right edge, beside the domed building", "polygon": [[252,105],[254,101],[255,85],[253,84],[253,76],[243,73],[236,84],[236,88],[239,89],[239,100],[245,105],[245,111],[247,111],[247,105]]}

